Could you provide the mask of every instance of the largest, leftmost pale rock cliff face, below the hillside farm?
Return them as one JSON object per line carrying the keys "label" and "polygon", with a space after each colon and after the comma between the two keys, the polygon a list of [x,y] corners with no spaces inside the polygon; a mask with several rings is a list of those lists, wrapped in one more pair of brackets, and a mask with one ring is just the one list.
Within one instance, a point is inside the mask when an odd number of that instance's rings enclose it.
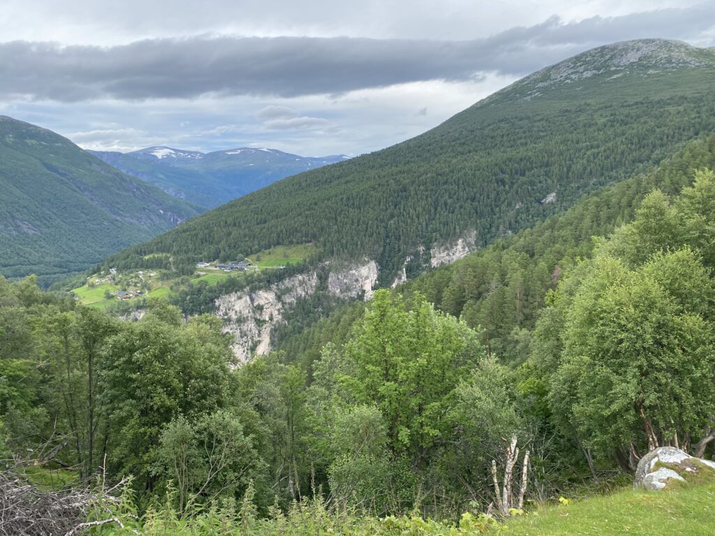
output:
{"label": "largest, leftmost pale rock cliff face, below the hillside farm", "polygon": [[315,293],[317,274],[298,274],[256,292],[233,292],[218,298],[216,315],[224,321],[224,330],[234,335],[233,352],[245,362],[253,352],[270,352],[273,329],[285,322],[285,312],[296,300]]}

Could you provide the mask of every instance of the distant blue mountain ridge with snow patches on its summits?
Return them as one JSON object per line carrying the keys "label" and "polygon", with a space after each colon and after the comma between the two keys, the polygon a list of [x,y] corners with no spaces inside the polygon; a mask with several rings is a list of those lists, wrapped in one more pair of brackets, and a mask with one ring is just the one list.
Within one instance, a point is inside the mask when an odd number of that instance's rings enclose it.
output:
{"label": "distant blue mountain ridge with snow patches on its summits", "polygon": [[129,153],[90,152],[174,197],[207,208],[217,207],[290,175],[349,159],[344,154],[301,157],[261,147],[207,153],[165,146]]}

